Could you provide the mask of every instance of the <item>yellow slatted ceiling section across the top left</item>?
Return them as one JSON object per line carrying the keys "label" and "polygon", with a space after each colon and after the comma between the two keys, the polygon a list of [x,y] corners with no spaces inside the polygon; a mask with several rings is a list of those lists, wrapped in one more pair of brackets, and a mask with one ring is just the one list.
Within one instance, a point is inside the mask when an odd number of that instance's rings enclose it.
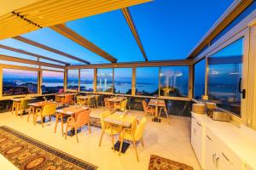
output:
{"label": "yellow slatted ceiling section across the top left", "polygon": [[[23,25],[22,22],[32,23],[38,26],[55,26],[61,23],[66,23],[70,20],[78,20],[94,14],[102,14],[119,8],[125,8],[139,3],[146,3],[151,0],[87,0],[87,1],[73,1],[73,0],[48,0],[33,3],[24,8],[18,8],[14,11],[15,14],[5,14],[0,16],[1,27],[13,29],[14,31],[1,31],[0,39],[19,36],[27,31],[38,30],[37,26],[31,24]],[[19,17],[17,15],[21,15]],[[25,20],[26,19],[26,20]],[[21,22],[20,22],[21,21]],[[17,24],[15,24],[17,23]],[[14,25],[15,24],[15,25]],[[15,28],[13,27],[15,26]],[[19,29],[19,26],[29,27],[29,29]],[[0,28],[1,28],[0,27]],[[23,29],[24,28],[24,29]]]}

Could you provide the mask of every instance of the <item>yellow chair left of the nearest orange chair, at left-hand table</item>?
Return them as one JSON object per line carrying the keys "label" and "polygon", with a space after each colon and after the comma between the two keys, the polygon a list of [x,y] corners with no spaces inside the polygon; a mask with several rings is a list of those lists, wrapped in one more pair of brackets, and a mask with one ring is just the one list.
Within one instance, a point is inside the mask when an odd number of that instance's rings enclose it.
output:
{"label": "yellow chair left of the nearest orange chair, at left-hand table", "polygon": [[34,116],[34,125],[36,125],[37,118],[38,118],[38,116],[40,116],[42,127],[44,127],[44,121],[43,121],[44,117],[49,116],[49,118],[50,118],[50,116],[55,115],[56,108],[57,108],[57,103],[44,105],[43,110],[38,108],[36,110],[36,114]]}

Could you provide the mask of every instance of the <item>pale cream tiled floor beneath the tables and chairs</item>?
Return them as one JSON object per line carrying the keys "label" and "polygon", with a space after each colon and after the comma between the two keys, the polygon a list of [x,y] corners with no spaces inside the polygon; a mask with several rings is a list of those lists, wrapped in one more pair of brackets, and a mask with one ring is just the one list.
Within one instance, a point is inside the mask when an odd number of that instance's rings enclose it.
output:
{"label": "pale cream tiled floor beneath the tables and chairs", "polygon": [[[91,116],[98,117],[99,113],[104,110],[104,108],[92,110]],[[128,111],[128,113],[136,115],[137,119],[144,116],[142,111]],[[143,137],[145,147],[143,148],[141,144],[137,147],[139,162],[137,162],[132,145],[124,155],[119,156],[118,152],[113,152],[111,139],[107,134],[102,139],[102,146],[99,147],[100,128],[92,127],[91,134],[84,129],[82,133],[79,133],[78,144],[75,137],[67,137],[65,140],[61,136],[61,126],[57,133],[54,133],[55,122],[47,122],[43,128],[40,124],[34,126],[32,122],[26,122],[26,116],[20,118],[8,112],[0,114],[0,125],[12,127],[45,144],[95,164],[99,167],[98,169],[147,170],[149,157],[152,154],[183,162],[194,167],[195,170],[201,169],[190,144],[190,118],[188,117],[171,116],[170,124],[168,124],[165,119],[160,123],[151,122],[148,116]],[[115,141],[116,139],[117,137]]]}

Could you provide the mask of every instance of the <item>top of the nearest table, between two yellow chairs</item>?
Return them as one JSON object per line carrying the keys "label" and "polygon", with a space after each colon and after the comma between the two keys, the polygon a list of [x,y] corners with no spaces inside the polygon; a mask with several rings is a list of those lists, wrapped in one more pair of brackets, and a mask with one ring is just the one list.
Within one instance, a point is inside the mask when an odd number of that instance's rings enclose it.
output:
{"label": "top of the nearest table, between two yellow chairs", "polygon": [[119,125],[122,127],[131,127],[131,125],[136,126],[136,123],[137,123],[136,116],[123,115],[122,113],[119,113],[119,112],[115,112],[112,115],[105,117],[103,120],[104,122]]}

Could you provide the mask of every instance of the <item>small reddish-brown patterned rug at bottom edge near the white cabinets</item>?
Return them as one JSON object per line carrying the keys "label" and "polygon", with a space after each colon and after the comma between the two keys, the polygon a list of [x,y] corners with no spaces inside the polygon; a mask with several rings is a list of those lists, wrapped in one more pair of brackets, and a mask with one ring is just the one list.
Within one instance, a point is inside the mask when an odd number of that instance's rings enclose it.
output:
{"label": "small reddish-brown patterned rug at bottom edge near the white cabinets", "polygon": [[193,167],[160,156],[151,155],[148,170],[193,170]]}

